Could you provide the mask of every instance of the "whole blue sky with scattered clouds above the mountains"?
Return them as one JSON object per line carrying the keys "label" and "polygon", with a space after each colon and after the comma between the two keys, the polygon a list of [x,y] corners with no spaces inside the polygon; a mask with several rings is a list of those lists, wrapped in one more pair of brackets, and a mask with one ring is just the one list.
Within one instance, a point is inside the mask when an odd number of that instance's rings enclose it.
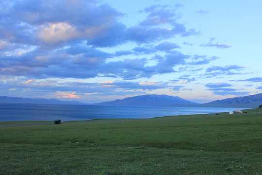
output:
{"label": "whole blue sky with scattered clouds above the mountains", "polygon": [[261,0],[0,0],[0,96],[262,92]]}

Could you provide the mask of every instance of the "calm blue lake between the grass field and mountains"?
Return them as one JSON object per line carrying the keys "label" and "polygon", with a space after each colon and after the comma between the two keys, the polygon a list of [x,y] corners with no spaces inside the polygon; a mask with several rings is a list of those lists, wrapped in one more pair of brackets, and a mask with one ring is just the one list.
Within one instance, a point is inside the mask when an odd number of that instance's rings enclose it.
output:
{"label": "calm blue lake between the grass field and mountains", "polygon": [[[152,118],[170,115],[228,112],[236,108],[221,107],[162,107],[112,105],[43,105],[0,103],[0,122],[61,121],[119,118]],[[239,108],[241,109],[241,108]]]}

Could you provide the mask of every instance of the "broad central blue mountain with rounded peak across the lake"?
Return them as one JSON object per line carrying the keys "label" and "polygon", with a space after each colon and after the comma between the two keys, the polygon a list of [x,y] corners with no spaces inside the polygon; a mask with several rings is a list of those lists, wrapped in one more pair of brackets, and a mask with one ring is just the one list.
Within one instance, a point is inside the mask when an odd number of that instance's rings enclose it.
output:
{"label": "broad central blue mountain with rounded peak across the lake", "polygon": [[137,106],[186,106],[197,103],[184,100],[180,97],[168,95],[139,95],[111,102],[102,102],[94,105],[137,105]]}

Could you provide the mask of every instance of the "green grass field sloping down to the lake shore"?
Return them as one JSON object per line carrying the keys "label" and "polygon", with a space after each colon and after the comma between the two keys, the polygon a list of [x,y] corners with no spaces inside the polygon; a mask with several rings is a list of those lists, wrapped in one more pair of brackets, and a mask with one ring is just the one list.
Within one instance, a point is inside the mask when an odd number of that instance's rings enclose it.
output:
{"label": "green grass field sloping down to the lake shore", "polygon": [[0,175],[262,175],[262,109],[0,122]]}

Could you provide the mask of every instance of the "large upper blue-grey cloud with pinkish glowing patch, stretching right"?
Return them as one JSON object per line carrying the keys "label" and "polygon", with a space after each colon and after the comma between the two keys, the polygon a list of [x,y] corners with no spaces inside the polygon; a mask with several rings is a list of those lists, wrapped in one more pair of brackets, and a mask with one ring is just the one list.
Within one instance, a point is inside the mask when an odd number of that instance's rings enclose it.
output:
{"label": "large upper blue-grey cloud with pinkish glowing patch, stretching right", "polygon": [[[193,29],[187,31],[177,23],[175,11],[166,7],[154,5],[145,9],[147,19],[128,28],[118,21],[123,13],[107,4],[98,5],[95,0],[16,1],[0,13],[6,19],[0,21],[0,36],[7,42],[50,48],[65,46],[72,40],[113,47],[128,41],[149,43],[174,35],[195,35]],[[172,24],[170,29],[154,27],[167,23]]]}

